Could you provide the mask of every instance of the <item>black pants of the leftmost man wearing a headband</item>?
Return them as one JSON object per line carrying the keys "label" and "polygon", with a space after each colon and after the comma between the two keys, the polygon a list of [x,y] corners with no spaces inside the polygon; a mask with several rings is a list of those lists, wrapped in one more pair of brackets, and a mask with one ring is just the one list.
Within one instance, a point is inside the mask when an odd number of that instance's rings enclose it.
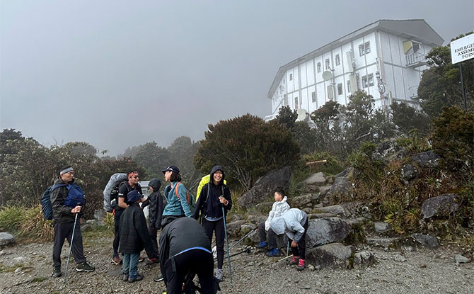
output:
{"label": "black pants of the leftmost man wearing a headband", "polygon": [[[64,239],[67,239],[69,246],[71,246],[73,229],[74,222],[61,222],[54,225],[54,244],[52,246],[53,266],[61,266],[62,245],[64,245]],[[76,222],[76,230],[74,230],[74,238],[72,239],[72,255],[78,264],[86,260],[82,247],[81,225],[79,225],[79,221]]]}

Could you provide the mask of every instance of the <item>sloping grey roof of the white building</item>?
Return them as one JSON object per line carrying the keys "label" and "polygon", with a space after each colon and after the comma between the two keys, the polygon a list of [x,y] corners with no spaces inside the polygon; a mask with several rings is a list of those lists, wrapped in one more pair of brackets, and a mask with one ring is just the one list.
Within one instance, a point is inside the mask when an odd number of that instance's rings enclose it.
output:
{"label": "sloping grey roof of the white building", "polygon": [[441,46],[444,43],[443,38],[441,38],[438,33],[433,30],[429,24],[424,21],[424,19],[404,19],[404,20],[391,20],[391,19],[380,19],[375,21],[374,23],[370,23],[367,26],[359,28],[352,33],[349,33],[323,47],[319,47],[318,49],[309,52],[306,55],[303,55],[296,60],[293,60],[287,64],[284,64],[282,67],[278,69],[277,75],[273,80],[272,86],[270,86],[270,90],[268,90],[268,98],[272,98],[274,91],[277,90],[277,86],[279,84],[279,80],[282,79],[284,73],[287,69],[291,67],[295,67],[298,64],[306,62],[308,60],[313,59],[316,56],[322,55],[325,52],[333,50],[335,47],[339,47],[344,45],[354,39],[360,38],[362,35],[366,35],[367,33],[374,32],[376,30],[381,30],[386,33],[390,33],[391,35],[396,35],[401,38],[415,40],[420,43],[430,45],[432,47]]}

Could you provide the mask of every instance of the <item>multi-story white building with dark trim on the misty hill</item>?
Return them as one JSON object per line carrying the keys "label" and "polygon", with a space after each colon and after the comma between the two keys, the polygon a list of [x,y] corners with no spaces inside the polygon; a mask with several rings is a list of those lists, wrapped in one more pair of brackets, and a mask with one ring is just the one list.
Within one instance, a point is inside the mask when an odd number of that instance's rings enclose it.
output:
{"label": "multi-story white building with dark trim on the misty hill", "polygon": [[379,20],[280,67],[268,98],[279,108],[315,111],[326,101],[349,102],[352,92],[374,96],[377,108],[393,101],[417,104],[425,55],[444,40],[422,19]]}

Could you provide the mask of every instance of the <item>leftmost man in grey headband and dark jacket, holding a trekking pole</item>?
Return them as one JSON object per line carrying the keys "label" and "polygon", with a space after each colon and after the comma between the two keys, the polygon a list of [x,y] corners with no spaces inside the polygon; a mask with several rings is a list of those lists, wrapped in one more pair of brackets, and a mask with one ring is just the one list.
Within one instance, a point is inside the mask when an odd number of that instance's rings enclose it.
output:
{"label": "leftmost man in grey headband and dark jacket, holding a trekking pole", "polygon": [[[80,191],[81,199],[83,198],[83,192],[74,181],[74,169],[71,166],[63,166],[59,170],[59,177],[54,181],[54,188],[51,192],[50,199],[52,204],[52,223],[54,225],[54,244],[52,247],[52,261],[53,261],[53,273],[52,276],[58,278],[61,276],[61,249],[64,244],[64,239],[67,239],[69,246],[72,249],[72,254],[76,260],[77,266],[76,271],[94,271],[96,268],[89,265],[84,256],[82,234],[81,234],[81,221],[77,222],[77,217],[83,216],[83,211],[79,201],[70,201],[68,198],[69,191]],[[79,214],[79,215],[76,215]],[[74,225],[76,228],[74,229]],[[72,232],[74,231],[74,237]],[[72,244],[71,244],[72,238]]]}

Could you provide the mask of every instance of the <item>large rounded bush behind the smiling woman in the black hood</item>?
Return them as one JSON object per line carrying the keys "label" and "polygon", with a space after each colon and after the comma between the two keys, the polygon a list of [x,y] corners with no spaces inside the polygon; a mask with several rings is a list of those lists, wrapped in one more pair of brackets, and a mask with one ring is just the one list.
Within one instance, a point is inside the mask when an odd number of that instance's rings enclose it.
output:
{"label": "large rounded bush behind the smiling woman in the black hood", "polygon": [[248,189],[268,171],[299,159],[293,135],[277,121],[265,123],[247,114],[208,127],[195,156],[195,166],[203,174],[219,164],[226,169],[226,177]]}

